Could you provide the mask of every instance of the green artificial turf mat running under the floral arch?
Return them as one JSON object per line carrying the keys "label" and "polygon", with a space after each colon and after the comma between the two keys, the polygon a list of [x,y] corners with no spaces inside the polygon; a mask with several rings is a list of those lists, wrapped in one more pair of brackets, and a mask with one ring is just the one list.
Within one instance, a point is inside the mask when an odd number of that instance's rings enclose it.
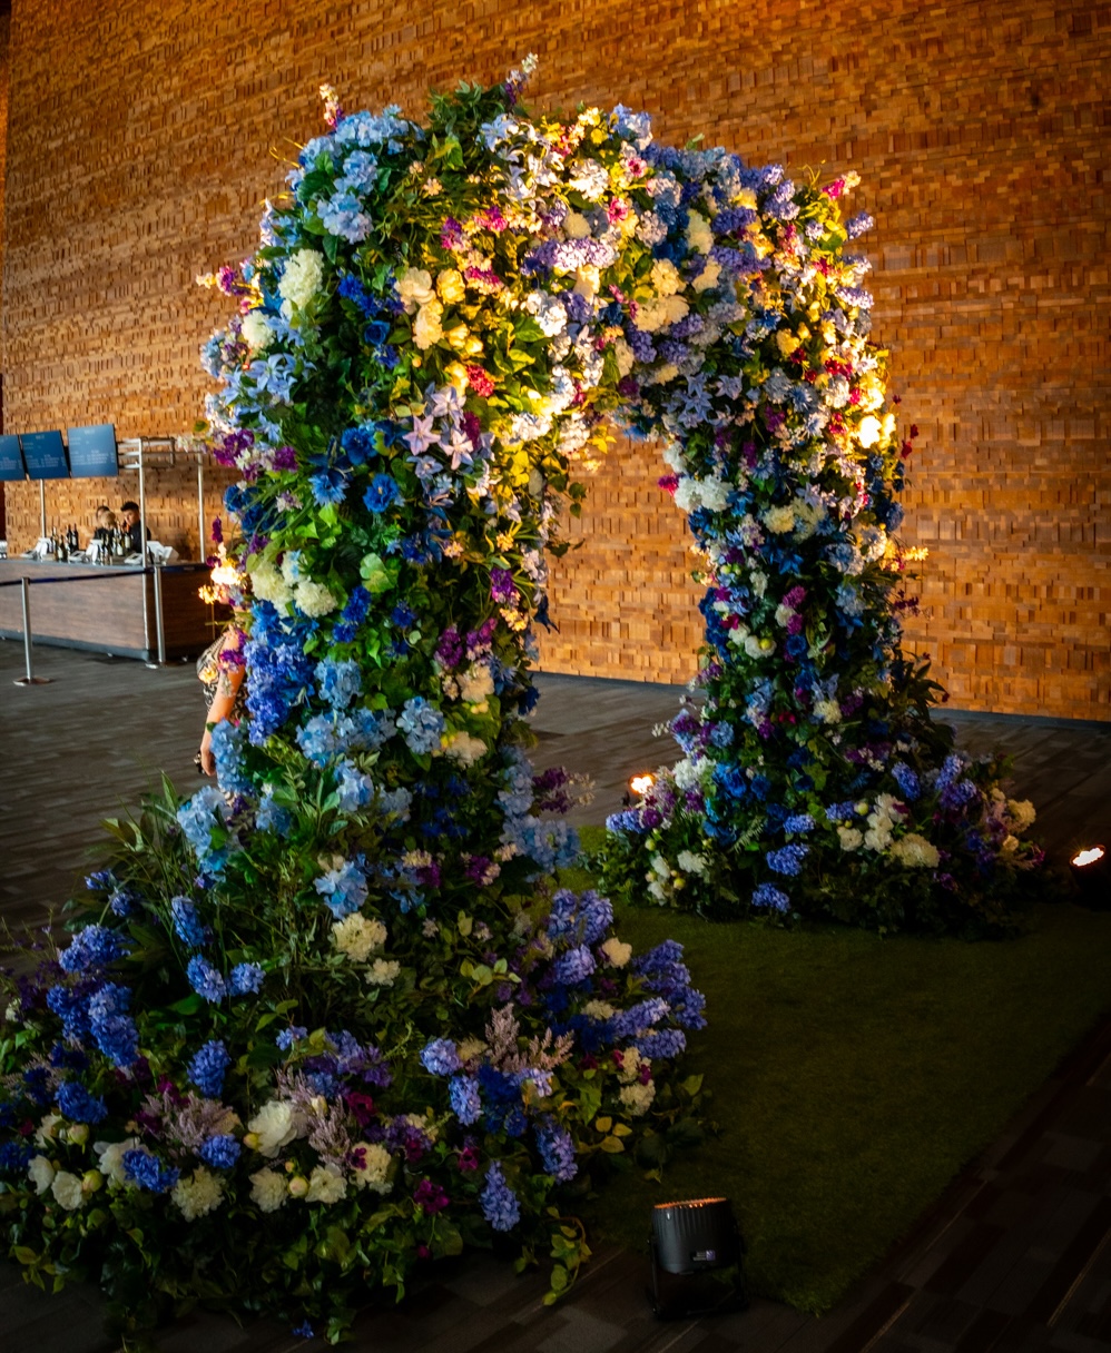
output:
{"label": "green artificial turf mat running under the floral arch", "polygon": [[1111,1005],[1111,913],[1069,904],[996,943],[616,913],[637,950],[685,946],[708,1017],[686,1069],[720,1134],[662,1184],[624,1174],[591,1230],[643,1249],[654,1203],[725,1195],[754,1291],[804,1311],[874,1265]]}

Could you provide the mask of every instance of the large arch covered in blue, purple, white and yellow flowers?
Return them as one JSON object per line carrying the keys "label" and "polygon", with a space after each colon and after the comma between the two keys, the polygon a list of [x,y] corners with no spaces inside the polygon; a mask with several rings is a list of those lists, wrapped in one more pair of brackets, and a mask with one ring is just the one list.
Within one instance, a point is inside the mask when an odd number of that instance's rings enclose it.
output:
{"label": "large arch covered in blue, purple, white and yellow flowers", "polygon": [[681,948],[555,886],[567,785],[525,756],[545,556],[613,421],[667,440],[709,591],[708,701],[608,879],[974,930],[1028,861],[899,648],[907,446],[848,180],[532,118],[521,81],[426,126],[325,89],[260,248],[208,279],[249,717],[219,787],[119,828],[3,1045],[12,1253],[97,1277],[124,1331],[204,1299],[336,1339],[495,1234],[551,1250],[555,1295],[568,1192],[691,1135]]}

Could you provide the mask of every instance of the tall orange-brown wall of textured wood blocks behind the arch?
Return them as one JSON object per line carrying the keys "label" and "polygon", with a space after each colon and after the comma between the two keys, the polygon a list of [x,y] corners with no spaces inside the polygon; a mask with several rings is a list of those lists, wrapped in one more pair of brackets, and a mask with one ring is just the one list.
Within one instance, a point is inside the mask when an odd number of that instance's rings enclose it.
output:
{"label": "tall orange-brown wall of textured wood blocks behind the arch", "polygon": [[[281,185],[268,150],[319,130],[319,83],[418,112],[429,84],[529,50],[537,106],[621,101],[664,139],[861,172],[876,333],[922,429],[905,536],[932,553],[908,639],[958,705],[1110,718],[1111,8],[1091,0],[14,0],[8,426],[187,430],[221,314],[192,277],[252,246]],[[593,482],[551,666],[690,671],[687,537],[658,472],[637,446]],[[34,490],[8,502],[37,520]]]}

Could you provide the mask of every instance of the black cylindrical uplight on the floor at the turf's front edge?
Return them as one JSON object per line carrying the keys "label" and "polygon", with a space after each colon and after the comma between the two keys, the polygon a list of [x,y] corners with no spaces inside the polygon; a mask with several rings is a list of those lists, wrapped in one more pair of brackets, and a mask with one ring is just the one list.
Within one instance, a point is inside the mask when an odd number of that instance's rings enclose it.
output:
{"label": "black cylindrical uplight on the floor at the turf's front edge", "polygon": [[725,1197],[652,1208],[652,1310],[662,1321],[748,1306],[744,1245]]}

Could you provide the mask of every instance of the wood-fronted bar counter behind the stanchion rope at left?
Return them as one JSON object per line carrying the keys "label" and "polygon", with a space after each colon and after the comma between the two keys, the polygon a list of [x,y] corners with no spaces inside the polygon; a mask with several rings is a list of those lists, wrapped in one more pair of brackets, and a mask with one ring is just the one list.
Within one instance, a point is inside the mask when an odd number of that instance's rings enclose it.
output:
{"label": "wood-fronted bar counter behind the stanchion rope at left", "polygon": [[[152,662],[158,655],[154,578],[138,566],[0,559],[0,637],[23,637],[20,578],[31,579],[31,639],[35,644],[84,648]],[[204,564],[161,570],[166,658],[200,653],[223,621],[200,599]],[[14,586],[4,586],[12,583]]]}

